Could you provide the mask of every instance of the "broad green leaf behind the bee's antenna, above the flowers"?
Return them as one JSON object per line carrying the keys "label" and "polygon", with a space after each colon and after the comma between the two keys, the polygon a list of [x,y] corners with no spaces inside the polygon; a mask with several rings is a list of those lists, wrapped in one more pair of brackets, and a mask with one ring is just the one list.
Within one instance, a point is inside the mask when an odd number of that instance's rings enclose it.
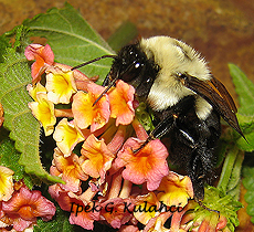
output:
{"label": "broad green leaf behind the bee's antenna, above the flowers", "polygon": [[[24,21],[24,25],[30,28],[30,35],[46,38],[55,60],[63,64],[75,66],[105,54],[114,54],[100,35],[67,3],[63,9],[53,8]],[[98,84],[102,84],[112,59],[104,59],[81,71],[87,76],[99,75]]]}

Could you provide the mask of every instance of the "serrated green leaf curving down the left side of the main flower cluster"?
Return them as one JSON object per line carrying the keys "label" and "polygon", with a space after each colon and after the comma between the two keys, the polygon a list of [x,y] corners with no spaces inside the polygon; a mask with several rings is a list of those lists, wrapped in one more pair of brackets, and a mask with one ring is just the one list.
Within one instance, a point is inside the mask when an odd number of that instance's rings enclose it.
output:
{"label": "serrated green leaf curving down the left side of the main flower cluster", "polygon": [[47,182],[63,182],[47,173],[39,155],[40,125],[32,116],[28,103],[31,102],[25,86],[31,82],[31,71],[25,56],[14,49],[6,50],[4,63],[0,64],[0,102],[4,109],[3,126],[10,130],[10,138],[21,152],[19,164],[29,175]]}

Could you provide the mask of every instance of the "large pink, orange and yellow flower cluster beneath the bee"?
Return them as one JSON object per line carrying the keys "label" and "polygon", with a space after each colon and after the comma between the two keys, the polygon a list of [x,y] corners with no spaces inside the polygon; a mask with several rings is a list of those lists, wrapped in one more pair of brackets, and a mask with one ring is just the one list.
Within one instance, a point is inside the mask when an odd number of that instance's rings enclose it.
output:
{"label": "large pink, orange and yellow flower cluster beneath the bee", "polygon": [[[35,60],[33,84],[28,86],[34,102],[29,107],[45,135],[53,134],[57,147],[50,172],[65,181],[49,192],[71,213],[70,223],[93,230],[99,221],[120,231],[139,231],[140,223],[142,231],[202,226],[202,221],[191,224],[193,217],[187,214],[197,207],[188,203],[193,198],[191,180],[169,170],[161,141],[151,140],[134,152],[148,135],[135,116],[138,102],[133,86],[117,81],[94,104],[105,87],[55,63],[49,45],[30,44],[25,56]],[[221,229],[218,222],[212,226]]]}

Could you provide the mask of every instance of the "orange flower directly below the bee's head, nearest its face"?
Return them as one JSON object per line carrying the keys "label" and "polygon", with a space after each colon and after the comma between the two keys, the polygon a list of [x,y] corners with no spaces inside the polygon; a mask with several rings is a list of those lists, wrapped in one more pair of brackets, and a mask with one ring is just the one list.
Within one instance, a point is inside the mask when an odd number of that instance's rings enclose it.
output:
{"label": "orange flower directly below the bee's head, nearest its face", "polygon": [[110,117],[116,118],[116,126],[128,125],[135,116],[134,109],[135,88],[123,81],[118,81],[116,87],[108,93],[110,103]]}

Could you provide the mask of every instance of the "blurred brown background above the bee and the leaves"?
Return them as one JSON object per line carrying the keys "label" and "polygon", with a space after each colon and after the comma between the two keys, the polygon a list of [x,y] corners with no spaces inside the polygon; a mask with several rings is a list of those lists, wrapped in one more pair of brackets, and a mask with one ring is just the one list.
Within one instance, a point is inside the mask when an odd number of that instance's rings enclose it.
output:
{"label": "blurred brown background above the bee and the leaves", "polygon": [[[0,0],[0,34],[49,8],[62,8],[64,2]],[[254,81],[253,0],[70,0],[68,3],[105,39],[129,20],[141,36],[163,34],[183,40],[205,56],[212,73],[234,98],[229,62]],[[253,231],[247,224],[248,219],[244,218],[243,231]]]}

